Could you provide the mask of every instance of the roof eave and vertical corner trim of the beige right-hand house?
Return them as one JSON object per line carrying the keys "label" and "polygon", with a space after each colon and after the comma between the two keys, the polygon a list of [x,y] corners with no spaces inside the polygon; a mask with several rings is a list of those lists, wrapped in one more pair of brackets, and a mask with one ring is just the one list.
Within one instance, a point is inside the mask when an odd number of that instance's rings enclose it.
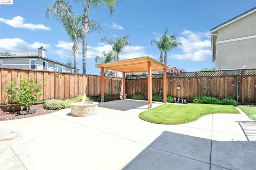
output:
{"label": "roof eave and vertical corner trim of the beige right-hand house", "polygon": [[224,23],[221,23],[220,25],[210,29],[210,32],[211,32],[211,35],[212,35],[212,62],[216,61],[216,41],[217,41],[217,35],[216,34],[216,31],[222,27],[225,27],[226,25],[229,25],[230,23],[233,23],[237,20],[240,20],[241,18],[244,18],[245,16],[248,16],[252,13],[256,12],[256,7],[224,22]]}

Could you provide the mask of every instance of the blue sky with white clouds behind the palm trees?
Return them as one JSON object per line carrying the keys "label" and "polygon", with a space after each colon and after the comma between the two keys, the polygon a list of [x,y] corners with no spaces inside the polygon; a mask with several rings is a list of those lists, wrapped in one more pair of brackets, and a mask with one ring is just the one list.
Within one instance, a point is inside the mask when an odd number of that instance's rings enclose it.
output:
{"label": "blue sky with white clouds behind the palm trees", "polygon": [[[62,63],[73,61],[72,42],[60,22],[46,19],[44,10],[53,0],[14,0],[13,5],[0,5],[0,52],[12,54],[38,53],[46,49],[46,57]],[[70,4],[74,4],[70,0]],[[82,4],[74,4],[82,14]],[[166,27],[169,34],[178,33],[182,47],[168,52],[167,64],[186,72],[212,68],[210,29],[256,6],[255,0],[125,0],[116,4],[110,16],[108,8],[91,8],[89,18],[98,21],[103,30],[92,32],[87,40],[87,74],[100,75],[94,58],[111,47],[100,39],[117,39],[130,35],[131,46],[119,60],[149,56],[159,61],[160,51],[150,41],[160,38]],[[82,73],[82,47],[78,56]]]}

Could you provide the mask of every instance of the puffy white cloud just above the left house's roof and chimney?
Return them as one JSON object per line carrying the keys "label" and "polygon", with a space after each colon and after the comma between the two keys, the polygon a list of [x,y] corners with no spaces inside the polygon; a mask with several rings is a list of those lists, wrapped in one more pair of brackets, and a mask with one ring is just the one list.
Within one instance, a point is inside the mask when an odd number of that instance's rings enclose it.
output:
{"label": "puffy white cloud just above the left house's roof and chimney", "polygon": [[11,54],[26,54],[26,53],[33,53],[35,55],[38,54],[38,48],[44,47],[46,49],[46,52],[51,51],[50,45],[40,42],[34,42],[32,44],[27,43],[26,41],[23,41],[19,38],[6,38],[6,39],[0,39],[0,51],[8,51]]}

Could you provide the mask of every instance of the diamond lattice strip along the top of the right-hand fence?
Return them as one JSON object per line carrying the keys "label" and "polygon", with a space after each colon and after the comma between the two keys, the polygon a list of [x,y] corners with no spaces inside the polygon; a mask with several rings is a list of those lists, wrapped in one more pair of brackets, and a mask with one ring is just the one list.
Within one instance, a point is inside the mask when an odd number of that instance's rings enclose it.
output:
{"label": "diamond lattice strip along the top of the right-hand fence", "polygon": [[[215,77],[215,76],[241,76],[242,70],[221,70],[221,71],[202,71],[202,72],[176,72],[167,73],[166,78],[186,78],[186,77]],[[244,70],[244,76],[256,76],[256,69]],[[126,76],[126,80],[147,79],[148,75]],[[152,74],[152,79],[163,78],[163,74]]]}

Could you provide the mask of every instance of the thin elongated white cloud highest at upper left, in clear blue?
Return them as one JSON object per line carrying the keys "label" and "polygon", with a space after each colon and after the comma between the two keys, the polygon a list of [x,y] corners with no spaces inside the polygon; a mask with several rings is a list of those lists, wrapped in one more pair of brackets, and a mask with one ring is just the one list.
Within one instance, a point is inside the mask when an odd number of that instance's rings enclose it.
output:
{"label": "thin elongated white cloud highest at upper left, in clear blue", "polygon": [[12,18],[12,20],[0,18],[0,22],[6,23],[7,25],[15,28],[26,28],[31,29],[32,31],[35,31],[36,29],[51,30],[50,27],[46,27],[43,24],[24,23],[24,21],[24,18],[21,16],[16,16]]}

